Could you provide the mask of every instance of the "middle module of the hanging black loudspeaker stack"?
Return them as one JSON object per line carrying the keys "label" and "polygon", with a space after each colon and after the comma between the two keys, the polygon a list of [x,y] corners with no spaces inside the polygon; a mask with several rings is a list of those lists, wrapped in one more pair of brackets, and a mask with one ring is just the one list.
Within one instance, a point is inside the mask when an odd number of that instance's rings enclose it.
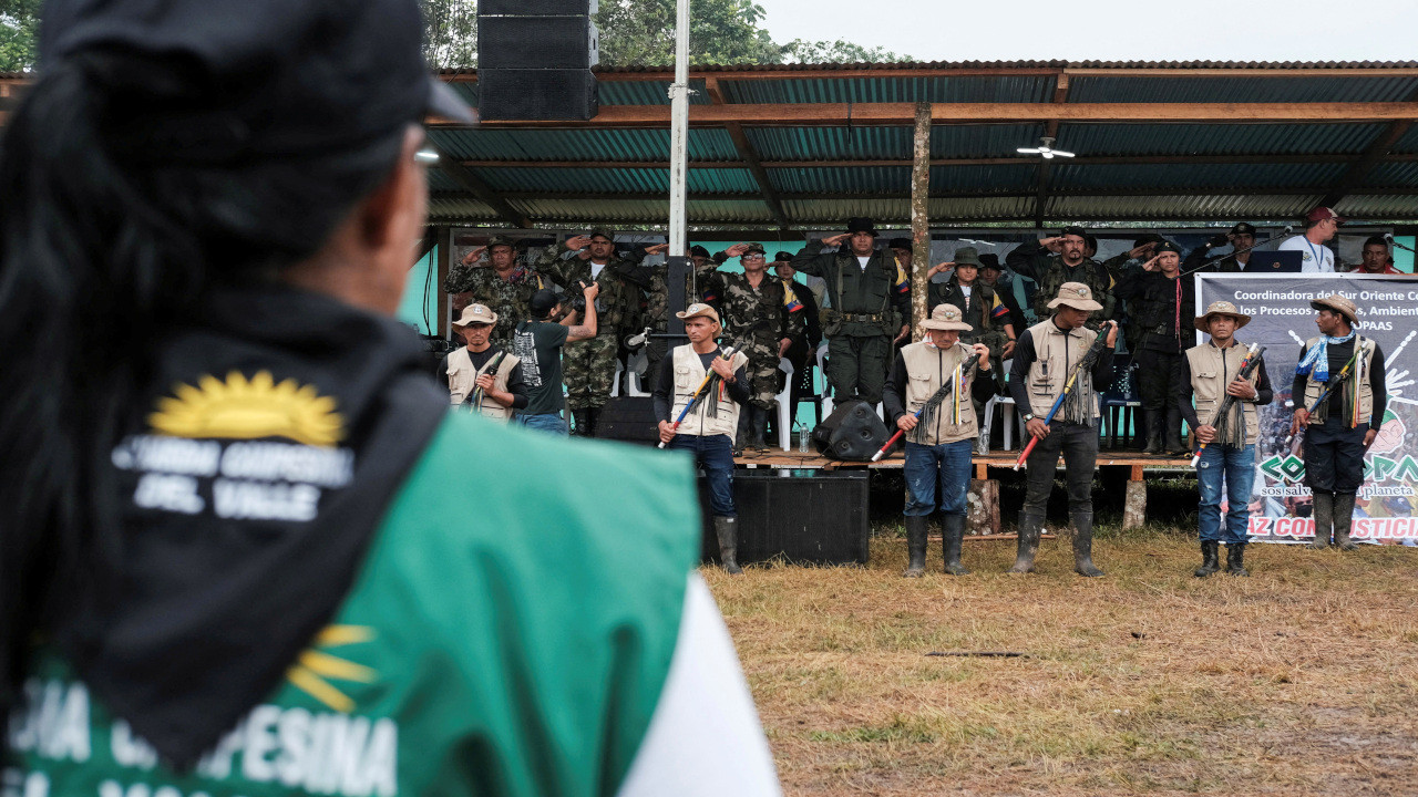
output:
{"label": "middle module of the hanging black loudspeaker stack", "polygon": [[586,16],[478,20],[478,75],[485,69],[590,69],[596,51],[596,24]]}

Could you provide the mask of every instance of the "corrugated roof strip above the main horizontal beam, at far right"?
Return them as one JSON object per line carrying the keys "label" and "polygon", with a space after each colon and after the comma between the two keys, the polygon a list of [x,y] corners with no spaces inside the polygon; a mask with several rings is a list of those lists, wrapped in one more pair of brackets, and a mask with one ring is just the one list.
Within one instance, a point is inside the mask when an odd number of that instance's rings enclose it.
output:
{"label": "corrugated roof strip above the main horizontal beam, at far right", "polygon": [[1149,78],[1069,81],[1069,102],[1401,102],[1418,78]]}

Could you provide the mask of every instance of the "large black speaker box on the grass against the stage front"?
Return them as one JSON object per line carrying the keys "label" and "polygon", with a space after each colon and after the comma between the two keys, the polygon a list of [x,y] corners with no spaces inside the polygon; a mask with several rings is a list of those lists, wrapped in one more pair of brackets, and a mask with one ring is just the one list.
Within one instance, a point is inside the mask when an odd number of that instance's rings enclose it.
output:
{"label": "large black speaker box on the grass against the stage front", "polygon": [[[813,474],[795,476],[793,474]],[[869,526],[868,476],[856,471],[733,472],[739,512],[740,563],[783,557],[813,564],[866,564]],[[709,485],[699,479],[703,508],[705,562],[719,560],[719,537],[709,511]]]}

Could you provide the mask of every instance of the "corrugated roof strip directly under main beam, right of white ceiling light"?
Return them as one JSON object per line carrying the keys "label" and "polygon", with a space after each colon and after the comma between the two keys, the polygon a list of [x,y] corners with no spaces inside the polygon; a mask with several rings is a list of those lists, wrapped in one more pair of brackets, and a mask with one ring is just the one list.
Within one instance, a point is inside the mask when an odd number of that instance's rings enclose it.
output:
{"label": "corrugated roof strip directly under main beam, right of white ceiling light", "polygon": [[[1360,153],[1384,125],[1059,125],[1079,155]],[[1032,146],[1032,145],[1022,145]]]}

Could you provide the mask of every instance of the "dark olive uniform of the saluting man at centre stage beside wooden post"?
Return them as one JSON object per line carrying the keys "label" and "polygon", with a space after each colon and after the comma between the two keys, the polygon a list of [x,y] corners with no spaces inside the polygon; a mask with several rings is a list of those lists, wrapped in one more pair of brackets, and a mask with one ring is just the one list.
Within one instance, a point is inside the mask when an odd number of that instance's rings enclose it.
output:
{"label": "dark olive uniform of the saluting man at centre stage beside wooden post", "polygon": [[[821,277],[831,309],[844,316],[839,329],[827,336],[832,400],[879,403],[895,356],[895,329],[910,318],[910,282],[902,282],[896,258],[891,250],[873,251],[864,269],[845,247],[822,254],[822,241],[808,241],[793,258],[793,269]],[[889,328],[895,329],[888,332]]]}

